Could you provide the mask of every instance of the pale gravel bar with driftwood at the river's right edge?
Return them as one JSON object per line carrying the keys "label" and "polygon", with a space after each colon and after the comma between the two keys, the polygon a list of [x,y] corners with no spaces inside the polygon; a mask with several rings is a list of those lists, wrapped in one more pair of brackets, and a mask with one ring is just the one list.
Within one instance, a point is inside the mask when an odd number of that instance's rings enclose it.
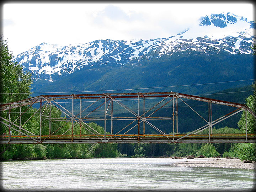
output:
{"label": "pale gravel bar with driftwood at the river's right edge", "polygon": [[177,167],[222,167],[222,168],[237,168],[237,169],[254,169],[256,170],[256,162],[245,163],[240,159],[226,158],[181,158],[184,161],[174,162],[173,166]]}

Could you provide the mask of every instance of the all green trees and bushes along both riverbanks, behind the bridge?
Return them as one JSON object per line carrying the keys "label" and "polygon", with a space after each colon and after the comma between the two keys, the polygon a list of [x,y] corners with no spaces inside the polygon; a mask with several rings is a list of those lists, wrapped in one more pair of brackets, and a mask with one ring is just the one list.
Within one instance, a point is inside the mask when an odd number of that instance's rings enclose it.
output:
{"label": "all green trees and bushes along both riverbanks, behind the bridge", "polygon": [[[0,84],[1,84],[1,103],[9,103],[13,101],[22,100],[29,97],[30,87],[32,84],[31,74],[23,73],[22,66],[17,63],[12,63],[12,55],[5,41],[0,45]],[[253,85],[255,88],[255,84]],[[254,95],[246,99],[246,105],[253,111],[255,107],[256,92]],[[18,109],[17,109],[18,110]],[[30,117],[36,112],[36,108],[27,108],[26,114]],[[46,110],[49,110],[47,108]],[[16,119],[19,116],[17,113],[11,114],[11,119]],[[61,116],[61,112],[57,108],[51,108],[52,118],[65,118]],[[247,130],[248,133],[256,133],[256,120],[249,113],[242,113],[241,119],[238,122],[239,129],[229,127],[213,128],[213,133],[245,133],[245,115],[247,115]],[[1,116],[8,118],[7,112],[1,112]],[[39,114],[33,116],[31,121],[27,124],[26,129],[34,134],[39,134]],[[25,121],[25,118],[23,119]],[[23,124],[24,122],[22,122]],[[79,134],[79,125],[74,126],[74,134]],[[94,122],[88,124],[98,133],[103,134],[103,127]],[[42,134],[49,134],[47,129],[49,122],[42,123]],[[51,127],[52,133],[58,134],[58,128],[62,127],[68,131],[70,122],[58,121]],[[0,133],[5,133],[2,129]],[[44,129],[45,128],[45,129]],[[204,130],[203,133],[207,133]],[[14,135],[18,132],[13,131]],[[60,133],[61,134],[61,133]],[[81,134],[89,134],[87,129],[82,129]],[[256,160],[255,144],[199,144],[199,143],[95,143],[95,144],[2,144],[0,146],[0,160],[8,159],[69,159],[69,158],[116,158],[116,157],[170,157],[170,156],[188,156],[188,155],[204,155],[206,157],[223,156],[223,157],[238,157],[241,160]]]}

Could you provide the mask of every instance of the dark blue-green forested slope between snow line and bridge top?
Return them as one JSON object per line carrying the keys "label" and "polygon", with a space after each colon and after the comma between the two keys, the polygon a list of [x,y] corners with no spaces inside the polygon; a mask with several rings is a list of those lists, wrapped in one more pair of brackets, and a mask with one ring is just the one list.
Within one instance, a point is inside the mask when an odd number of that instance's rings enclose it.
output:
{"label": "dark blue-green forested slope between snow line and bridge top", "polygon": [[[254,57],[251,54],[234,54],[226,52],[218,54],[192,53],[190,50],[174,53],[161,58],[140,60],[133,65],[112,67],[109,65],[92,69],[81,69],[60,80],[49,82],[37,80],[32,85],[32,92],[83,93],[82,91],[124,90],[137,92],[137,88],[163,87],[156,89],[140,89],[138,92],[174,91],[190,95],[208,94],[222,91],[227,87],[251,85],[254,79]],[[217,82],[235,81],[215,84]],[[212,83],[212,84],[211,84]],[[186,86],[197,85],[198,86]],[[49,91],[46,91],[49,90]],[[112,91],[114,92],[114,91]],[[118,91],[120,92],[120,91]],[[87,93],[87,92],[84,92]],[[36,96],[40,94],[33,94]]]}

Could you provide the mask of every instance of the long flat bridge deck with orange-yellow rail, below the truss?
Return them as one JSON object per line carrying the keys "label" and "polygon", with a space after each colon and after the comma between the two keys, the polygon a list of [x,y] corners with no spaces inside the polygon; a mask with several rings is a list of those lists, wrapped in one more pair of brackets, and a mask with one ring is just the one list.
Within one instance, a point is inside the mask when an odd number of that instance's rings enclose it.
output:
{"label": "long flat bridge deck with orange-yellow rail, below the truss", "polygon": [[[183,137],[185,134],[153,135],[153,134],[137,134],[132,135],[30,135],[31,138],[12,135],[9,139],[8,135],[2,136],[0,144],[7,143],[256,143],[256,134],[193,134],[189,137]],[[183,137],[183,138],[181,138]]]}

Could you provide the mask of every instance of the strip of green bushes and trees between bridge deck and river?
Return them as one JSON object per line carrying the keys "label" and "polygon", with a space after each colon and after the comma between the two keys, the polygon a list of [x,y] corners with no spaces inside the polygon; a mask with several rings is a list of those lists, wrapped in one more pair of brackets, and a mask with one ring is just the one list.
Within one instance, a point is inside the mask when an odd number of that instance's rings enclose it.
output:
{"label": "strip of green bushes and trees between bridge deck and river", "polygon": [[[240,144],[242,145],[242,144]],[[87,158],[240,158],[239,144],[199,143],[95,143],[95,144],[11,144],[1,160],[87,159]]]}

